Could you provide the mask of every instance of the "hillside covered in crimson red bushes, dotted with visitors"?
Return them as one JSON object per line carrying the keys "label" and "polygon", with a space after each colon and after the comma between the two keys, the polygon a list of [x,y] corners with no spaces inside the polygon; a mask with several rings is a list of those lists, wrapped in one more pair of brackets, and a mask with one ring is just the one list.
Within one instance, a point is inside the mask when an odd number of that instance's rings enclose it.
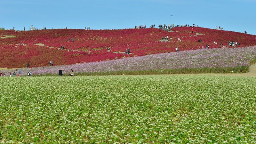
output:
{"label": "hillside covered in crimson red bushes, dotted with visitors", "polygon": [[[83,62],[105,61],[126,57],[143,56],[165,52],[200,49],[210,44],[219,48],[220,42],[228,46],[228,41],[240,42],[239,46],[253,46],[256,36],[238,32],[191,27],[172,28],[173,32],[156,28],[120,30],[52,29],[34,31],[0,31],[0,68],[47,66],[50,60],[54,65],[68,65]],[[161,37],[169,36],[169,41]],[[172,37],[172,41],[170,38]],[[72,42],[71,39],[74,39]],[[180,38],[181,42],[177,39]],[[69,39],[69,41],[68,41]],[[198,43],[198,39],[202,39]],[[217,42],[217,45],[213,44]],[[19,44],[24,45],[19,45]],[[64,45],[65,50],[60,50]],[[111,52],[107,48],[111,47]],[[131,54],[125,54],[125,49]]]}

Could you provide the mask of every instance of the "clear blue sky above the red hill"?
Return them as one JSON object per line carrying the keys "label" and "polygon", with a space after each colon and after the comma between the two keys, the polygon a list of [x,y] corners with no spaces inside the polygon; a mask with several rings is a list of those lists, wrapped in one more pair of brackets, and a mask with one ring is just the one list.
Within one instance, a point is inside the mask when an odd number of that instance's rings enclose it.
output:
{"label": "clear blue sky above the red hill", "polygon": [[0,28],[123,29],[188,23],[256,35],[255,5],[256,0],[0,0]]}

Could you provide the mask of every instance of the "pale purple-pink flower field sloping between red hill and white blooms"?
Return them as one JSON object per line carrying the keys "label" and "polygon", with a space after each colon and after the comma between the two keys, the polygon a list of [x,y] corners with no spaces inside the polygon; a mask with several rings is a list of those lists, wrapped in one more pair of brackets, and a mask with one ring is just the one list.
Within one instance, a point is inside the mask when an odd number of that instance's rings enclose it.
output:
{"label": "pale purple-pink flower field sloping between red hill and white blooms", "polygon": [[[119,60],[74,65],[29,68],[33,75],[57,75],[62,69],[68,75],[145,75],[177,73],[245,73],[256,62],[256,47],[193,50],[152,54]],[[28,72],[23,68],[23,72]],[[6,74],[10,70],[0,70]]]}

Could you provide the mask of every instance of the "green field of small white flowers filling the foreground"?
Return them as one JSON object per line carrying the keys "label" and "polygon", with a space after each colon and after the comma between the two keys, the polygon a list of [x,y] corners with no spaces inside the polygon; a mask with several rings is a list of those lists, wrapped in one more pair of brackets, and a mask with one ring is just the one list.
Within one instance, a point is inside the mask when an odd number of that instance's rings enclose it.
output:
{"label": "green field of small white flowers filling the foreground", "polygon": [[0,143],[256,141],[255,77],[0,78]]}

